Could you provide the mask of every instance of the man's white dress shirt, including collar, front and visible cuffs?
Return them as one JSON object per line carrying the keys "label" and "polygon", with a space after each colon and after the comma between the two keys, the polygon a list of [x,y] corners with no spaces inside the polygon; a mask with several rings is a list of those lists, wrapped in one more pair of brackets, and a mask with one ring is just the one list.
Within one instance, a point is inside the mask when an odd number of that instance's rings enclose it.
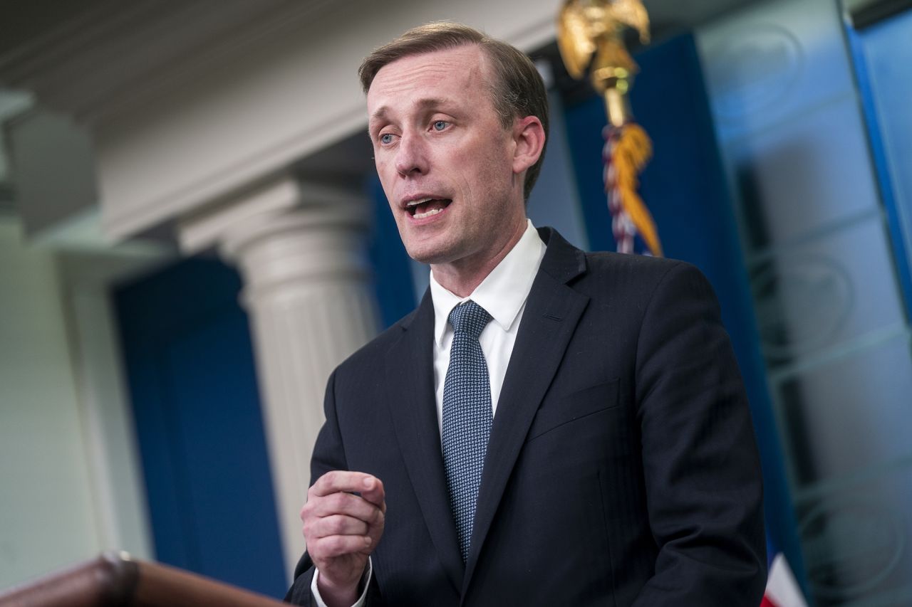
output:
{"label": "man's white dress shirt, including collar, front and visible cuffs", "polygon": [[[437,401],[437,427],[443,431],[443,381],[450,365],[450,347],[453,341],[453,329],[450,325],[450,312],[454,307],[472,300],[491,314],[492,321],[484,327],[478,341],[482,345],[484,360],[488,365],[488,378],[491,381],[492,416],[497,413],[497,401],[501,396],[503,376],[506,376],[516,334],[520,321],[523,320],[525,300],[532,290],[532,283],[538,267],[544,259],[544,242],[532,221],[526,220],[525,231],[519,242],[497,264],[490,274],[475,287],[468,297],[459,297],[447,291],[430,273],[430,298],[434,304],[434,396]],[[362,607],[368,596],[368,584],[373,574],[373,566],[368,559],[368,568],[361,578],[364,591],[352,607]],[[316,589],[319,571],[314,571],[310,592],[318,607],[326,607],[320,592]]]}

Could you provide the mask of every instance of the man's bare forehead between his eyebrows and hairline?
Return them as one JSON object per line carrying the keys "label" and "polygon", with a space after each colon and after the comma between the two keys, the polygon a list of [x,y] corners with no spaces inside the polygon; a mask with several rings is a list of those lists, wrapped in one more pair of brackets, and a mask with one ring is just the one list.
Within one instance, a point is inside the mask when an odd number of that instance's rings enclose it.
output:
{"label": "man's bare forehead between his eyebrows and hairline", "polygon": [[381,67],[368,89],[368,110],[419,102],[424,98],[466,98],[478,102],[487,84],[487,67],[479,46],[401,57]]}

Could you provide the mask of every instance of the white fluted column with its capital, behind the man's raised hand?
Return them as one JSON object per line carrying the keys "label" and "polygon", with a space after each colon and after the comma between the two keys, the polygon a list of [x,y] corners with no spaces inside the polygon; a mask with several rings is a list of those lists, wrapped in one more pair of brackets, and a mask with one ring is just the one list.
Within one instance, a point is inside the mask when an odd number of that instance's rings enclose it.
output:
{"label": "white fluted column with its capital, behind the man's raised hand", "polygon": [[290,575],[304,550],[298,512],[323,425],[326,379],[377,332],[367,201],[285,177],[185,221],[186,248],[212,236],[244,276],[279,530]]}

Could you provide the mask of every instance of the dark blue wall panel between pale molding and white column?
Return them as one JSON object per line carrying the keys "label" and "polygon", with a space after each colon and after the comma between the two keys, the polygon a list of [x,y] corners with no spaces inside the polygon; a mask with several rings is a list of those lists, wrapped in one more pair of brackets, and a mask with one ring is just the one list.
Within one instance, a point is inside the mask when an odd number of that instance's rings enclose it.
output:
{"label": "dark blue wall panel between pale molding and white column", "polygon": [[115,293],[157,559],[285,594],[241,281],[192,259]]}

